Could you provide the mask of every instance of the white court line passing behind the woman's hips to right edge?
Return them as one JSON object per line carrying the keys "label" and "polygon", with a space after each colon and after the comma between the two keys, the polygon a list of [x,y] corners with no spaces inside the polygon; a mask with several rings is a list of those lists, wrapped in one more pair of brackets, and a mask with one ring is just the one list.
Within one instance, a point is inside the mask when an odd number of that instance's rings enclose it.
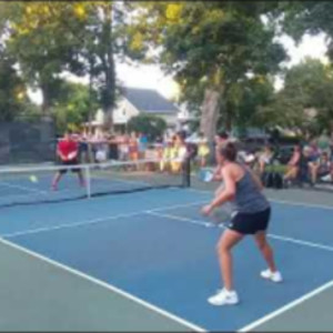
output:
{"label": "white court line passing behind the woman's hips to right edge", "polygon": [[[157,216],[160,216],[160,218],[185,221],[185,222],[196,224],[196,225],[202,225],[202,226],[214,226],[215,225],[214,223],[209,223],[209,222],[204,222],[204,221],[200,221],[200,220],[193,220],[193,219],[188,219],[188,218],[182,218],[182,216],[176,216],[176,215],[171,215],[171,214],[157,213],[157,212],[152,212],[152,211],[147,211],[147,213],[152,214],[152,215],[157,215]],[[219,228],[225,228],[222,223],[219,224],[218,226]],[[325,251],[333,252],[333,246],[322,245],[322,244],[317,244],[317,243],[313,243],[313,242],[307,242],[307,241],[302,241],[302,240],[297,240],[297,239],[286,238],[286,236],[283,236],[283,235],[278,235],[278,234],[272,234],[272,233],[269,233],[268,236],[271,238],[271,239],[274,239],[274,240],[283,241],[283,242],[289,242],[289,243],[294,243],[294,244],[297,244],[297,245],[304,245],[304,246],[309,246],[309,248],[314,248],[314,249],[320,249],[320,250],[325,250]]]}

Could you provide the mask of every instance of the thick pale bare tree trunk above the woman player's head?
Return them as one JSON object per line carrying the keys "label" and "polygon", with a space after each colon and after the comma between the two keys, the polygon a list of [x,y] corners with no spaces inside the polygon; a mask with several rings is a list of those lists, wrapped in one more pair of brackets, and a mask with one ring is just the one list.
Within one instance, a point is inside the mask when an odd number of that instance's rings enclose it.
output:
{"label": "thick pale bare tree trunk above the woman player's head", "polygon": [[204,92],[200,120],[200,131],[204,134],[205,138],[208,138],[210,142],[213,141],[216,133],[216,124],[220,111],[220,98],[221,93],[213,89],[206,89]]}

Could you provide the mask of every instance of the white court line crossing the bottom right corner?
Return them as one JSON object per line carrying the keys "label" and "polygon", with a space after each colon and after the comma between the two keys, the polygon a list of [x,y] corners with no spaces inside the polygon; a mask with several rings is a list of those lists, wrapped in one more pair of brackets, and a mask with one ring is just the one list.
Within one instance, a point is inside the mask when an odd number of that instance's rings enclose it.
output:
{"label": "white court line crossing the bottom right corner", "polygon": [[278,316],[278,315],[280,315],[280,314],[282,314],[282,313],[284,313],[284,312],[286,312],[289,310],[291,310],[292,307],[295,307],[295,306],[300,305],[301,303],[307,301],[309,299],[311,299],[311,297],[313,297],[313,296],[322,293],[323,291],[325,291],[325,290],[327,290],[327,289],[330,289],[332,286],[333,286],[333,280],[330,281],[330,282],[327,282],[327,283],[325,283],[325,284],[323,284],[322,286],[313,290],[312,292],[310,292],[310,293],[301,296],[300,299],[296,299],[293,302],[291,302],[291,303],[289,303],[289,304],[286,304],[284,306],[278,309],[276,311],[273,311],[272,313],[270,313],[270,314],[261,317],[260,320],[256,320],[253,323],[251,323],[251,324],[249,324],[249,325],[240,329],[238,332],[249,332],[249,331],[252,331],[253,329],[255,329],[255,327],[264,324],[265,322],[270,321],[271,319],[273,319],[273,317],[275,317],[275,316]]}

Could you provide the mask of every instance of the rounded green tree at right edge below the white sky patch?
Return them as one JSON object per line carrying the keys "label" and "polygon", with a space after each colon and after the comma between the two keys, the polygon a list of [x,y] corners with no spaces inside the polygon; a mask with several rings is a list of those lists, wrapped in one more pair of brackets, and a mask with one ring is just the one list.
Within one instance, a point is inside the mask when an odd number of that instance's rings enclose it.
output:
{"label": "rounded green tree at right edge below the white sky patch", "polygon": [[282,91],[262,108],[268,124],[280,124],[306,132],[330,128],[333,117],[333,71],[320,60],[306,59],[285,73]]}

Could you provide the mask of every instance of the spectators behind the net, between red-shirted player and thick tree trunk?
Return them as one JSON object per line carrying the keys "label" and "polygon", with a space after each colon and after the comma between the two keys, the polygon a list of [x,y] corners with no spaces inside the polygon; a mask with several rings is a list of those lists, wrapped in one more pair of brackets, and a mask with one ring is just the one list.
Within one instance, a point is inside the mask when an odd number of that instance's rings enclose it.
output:
{"label": "spectators behind the net, between red-shirted player and thick tree trunk", "polygon": [[[134,163],[138,160],[154,160],[160,161],[160,171],[179,172],[182,161],[190,153],[184,133],[165,133],[163,138],[155,140],[149,140],[145,133],[135,132],[98,132],[93,135],[82,132],[73,134],[73,138],[79,143],[80,163],[100,163],[108,160]],[[204,159],[210,152],[206,140],[200,144],[199,150],[201,164],[205,165]]]}

